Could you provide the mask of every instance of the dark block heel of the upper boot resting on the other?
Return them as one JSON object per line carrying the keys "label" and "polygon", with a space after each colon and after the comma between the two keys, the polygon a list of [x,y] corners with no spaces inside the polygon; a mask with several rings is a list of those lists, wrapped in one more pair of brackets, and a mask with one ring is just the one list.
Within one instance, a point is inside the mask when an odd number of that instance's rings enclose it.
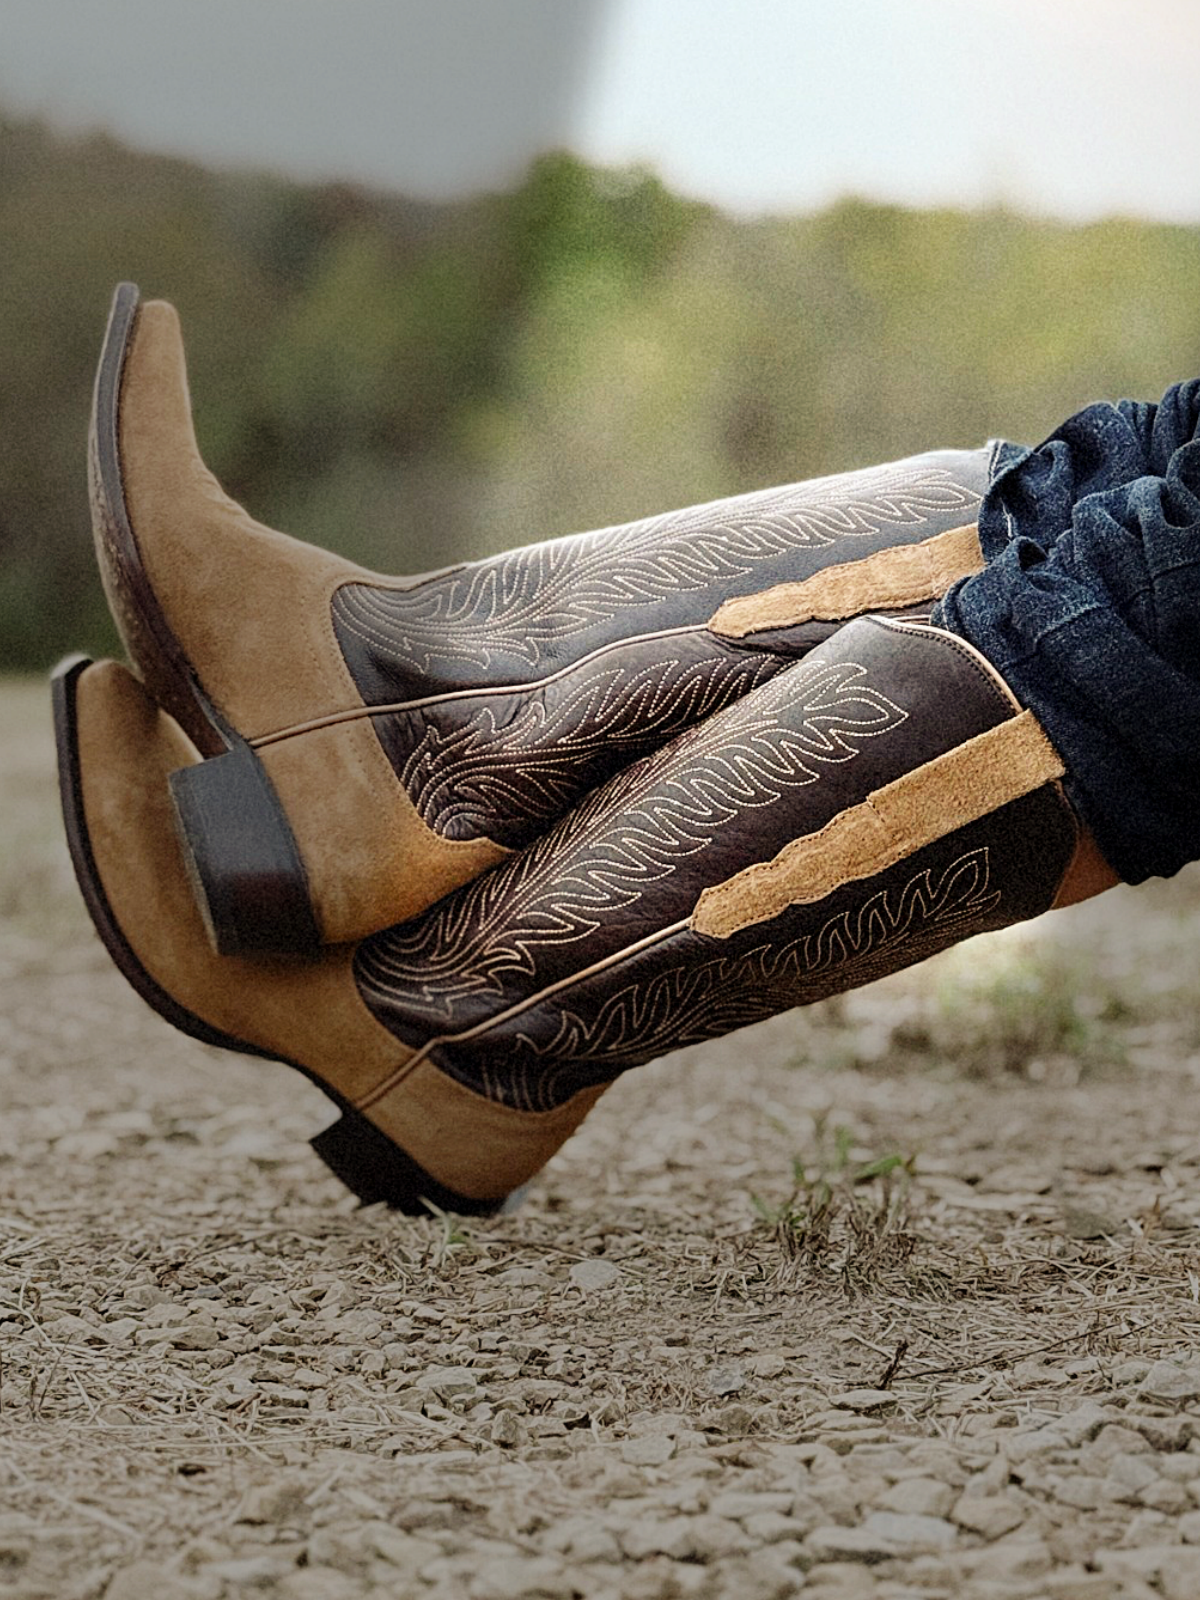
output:
{"label": "dark block heel of the upper boot resting on the other", "polygon": [[248,744],[168,778],[184,864],[219,955],[315,955],[296,838]]}

